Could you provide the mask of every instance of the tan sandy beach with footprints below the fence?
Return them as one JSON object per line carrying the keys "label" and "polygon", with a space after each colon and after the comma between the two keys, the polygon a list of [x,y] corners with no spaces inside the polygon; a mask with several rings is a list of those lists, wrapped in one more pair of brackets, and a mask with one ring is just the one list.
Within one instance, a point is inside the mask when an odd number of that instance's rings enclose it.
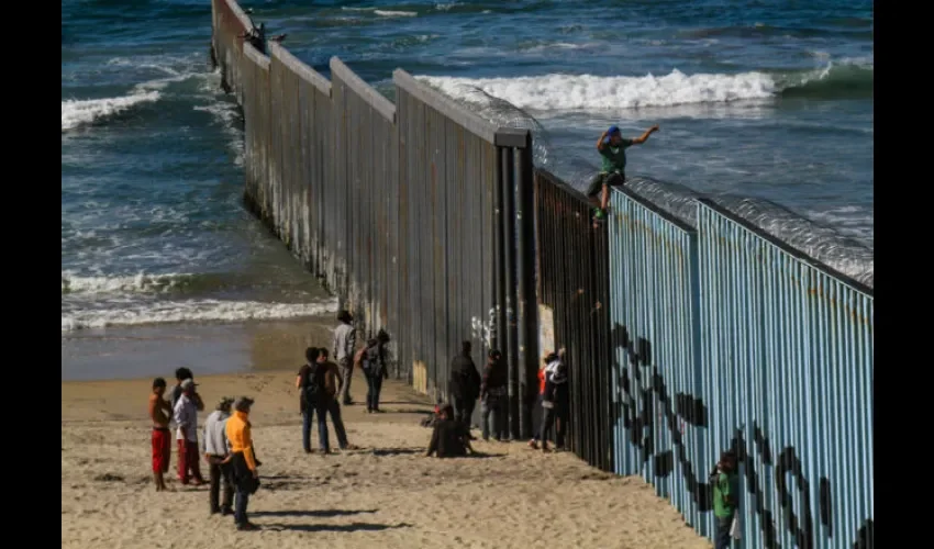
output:
{"label": "tan sandy beach with footprints below the fence", "polygon": [[[62,383],[63,548],[711,547],[642,479],[602,473],[568,452],[479,440],[475,447],[489,457],[422,457],[430,430],[419,422],[431,407],[402,383],[383,388],[385,414],[344,407],[360,450],[309,456],[294,372],[194,371],[208,411],[222,395],[256,399],[263,486],[249,513],[262,529],[238,533],[232,517],[211,516],[207,485],[175,479],[175,447],[170,492],[155,492],[152,379],[69,381]],[[164,377],[174,383],[171,370]],[[364,380],[355,376],[352,388],[364,401]],[[333,429],[331,438],[336,447]]]}

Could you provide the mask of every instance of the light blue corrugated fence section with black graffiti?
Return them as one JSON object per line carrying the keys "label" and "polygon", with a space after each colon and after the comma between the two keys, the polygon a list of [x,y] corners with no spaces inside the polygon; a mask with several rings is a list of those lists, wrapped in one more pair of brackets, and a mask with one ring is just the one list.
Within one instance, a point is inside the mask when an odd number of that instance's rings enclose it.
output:
{"label": "light blue corrugated fence section with black graffiti", "polygon": [[872,547],[872,291],[709,201],[694,229],[614,192],[614,470],[711,536],[741,459],[740,547]]}

